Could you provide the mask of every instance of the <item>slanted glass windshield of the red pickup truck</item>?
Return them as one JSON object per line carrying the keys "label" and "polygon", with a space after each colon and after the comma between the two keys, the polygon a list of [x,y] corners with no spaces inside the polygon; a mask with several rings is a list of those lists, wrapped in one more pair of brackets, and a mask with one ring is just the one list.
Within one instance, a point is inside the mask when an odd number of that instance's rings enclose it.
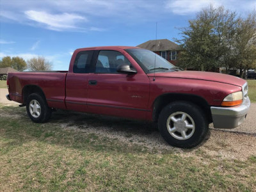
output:
{"label": "slanted glass windshield of the red pickup truck", "polygon": [[177,70],[177,67],[172,65],[172,63],[164,60],[164,58],[152,51],[148,51],[146,49],[126,49],[125,51],[127,51],[132,58],[134,58],[140,67],[143,68],[145,73],[163,72],[174,69]]}

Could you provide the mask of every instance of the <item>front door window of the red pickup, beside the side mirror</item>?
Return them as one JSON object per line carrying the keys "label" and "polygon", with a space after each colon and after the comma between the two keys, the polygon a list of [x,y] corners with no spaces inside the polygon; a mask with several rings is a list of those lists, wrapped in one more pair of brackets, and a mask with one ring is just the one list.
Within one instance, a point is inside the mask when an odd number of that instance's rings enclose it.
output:
{"label": "front door window of the red pickup, beside the side mirror", "polygon": [[127,64],[132,67],[131,63],[124,54],[118,51],[102,50],[99,52],[95,73],[115,74],[118,65]]}

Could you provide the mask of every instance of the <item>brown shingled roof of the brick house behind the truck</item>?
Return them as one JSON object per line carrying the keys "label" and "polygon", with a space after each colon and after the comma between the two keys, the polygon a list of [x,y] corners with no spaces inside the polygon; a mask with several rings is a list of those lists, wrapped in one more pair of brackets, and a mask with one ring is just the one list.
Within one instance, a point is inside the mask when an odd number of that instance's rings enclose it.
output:
{"label": "brown shingled roof of the brick house behind the truck", "polygon": [[143,44],[137,45],[137,47],[148,49],[150,51],[171,51],[179,49],[179,45],[164,38],[158,40],[149,40]]}

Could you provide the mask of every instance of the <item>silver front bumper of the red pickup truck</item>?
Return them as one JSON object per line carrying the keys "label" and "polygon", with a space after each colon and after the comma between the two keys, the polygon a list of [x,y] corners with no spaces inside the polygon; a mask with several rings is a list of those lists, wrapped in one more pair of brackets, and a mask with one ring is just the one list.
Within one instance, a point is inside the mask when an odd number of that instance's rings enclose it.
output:
{"label": "silver front bumper of the red pickup truck", "polygon": [[250,108],[250,99],[245,97],[243,104],[232,108],[211,107],[214,128],[233,129],[241,125]]}

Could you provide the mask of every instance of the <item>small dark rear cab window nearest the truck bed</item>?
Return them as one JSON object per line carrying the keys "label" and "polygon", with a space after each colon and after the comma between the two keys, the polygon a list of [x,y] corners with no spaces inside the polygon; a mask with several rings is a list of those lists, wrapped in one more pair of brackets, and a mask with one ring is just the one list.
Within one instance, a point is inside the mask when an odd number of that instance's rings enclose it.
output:
{"label": "small dark rear cab window nearest the truck bed", "polygon": [[73,72],[76,74],[87,74],[92,72],[92,54],[93,51],[81,51],[77,53]]}

